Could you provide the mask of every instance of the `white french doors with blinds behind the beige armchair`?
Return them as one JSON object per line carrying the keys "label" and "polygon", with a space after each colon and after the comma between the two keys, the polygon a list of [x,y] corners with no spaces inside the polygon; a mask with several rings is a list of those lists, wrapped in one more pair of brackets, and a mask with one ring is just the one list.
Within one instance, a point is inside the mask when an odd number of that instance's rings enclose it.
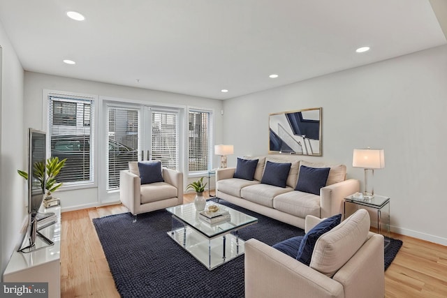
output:
{"label": "white french doors with blinds behind the beige armchair", "polygon": [[[119,172],[129,161],[161,161],[163,167],[179,170],[179,110],[148,105],[105,103],[105,198],[119,200]],[[101,150],[100,150],[101,152]],[[101,154],[100,154],[101,158]]]}

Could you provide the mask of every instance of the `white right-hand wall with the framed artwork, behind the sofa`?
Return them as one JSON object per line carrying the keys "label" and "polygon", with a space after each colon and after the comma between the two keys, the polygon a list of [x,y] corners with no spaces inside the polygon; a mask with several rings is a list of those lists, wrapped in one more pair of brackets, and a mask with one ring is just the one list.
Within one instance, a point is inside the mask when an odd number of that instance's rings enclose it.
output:
{"label": "white right-hand wall with the framed artwork, behind the sofa", "polygon": [[228,165],[267,153],[269,113],[307,107],[323,107],[323,156],[313,159],[344,163],[363,182],[353,149],[383,148],[374,190],[391,198],[392,230],[447,245],[447,45],[225,100]]}

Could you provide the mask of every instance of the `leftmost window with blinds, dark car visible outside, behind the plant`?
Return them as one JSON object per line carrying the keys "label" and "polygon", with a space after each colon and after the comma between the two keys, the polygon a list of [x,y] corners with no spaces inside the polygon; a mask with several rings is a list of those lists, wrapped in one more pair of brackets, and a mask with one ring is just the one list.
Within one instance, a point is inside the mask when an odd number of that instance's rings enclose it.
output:
{"label": "leftmost window with blinds, dark car visible outside, behind the plant", "polygon": [[93,182],[94,100],[49,94],[48,101],[51,156],[67,158],[57,181],[64,185]]}

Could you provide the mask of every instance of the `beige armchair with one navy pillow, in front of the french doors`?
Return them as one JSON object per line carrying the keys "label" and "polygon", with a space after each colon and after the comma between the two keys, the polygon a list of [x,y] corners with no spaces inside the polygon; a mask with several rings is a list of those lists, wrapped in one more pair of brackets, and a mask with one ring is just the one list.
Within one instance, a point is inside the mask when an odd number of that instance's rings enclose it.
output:
{"label": "beige armchair with one navy pillow, in front of the french doors", "polygon": [[162,168],[164,182],[141,184],[138,162],[129,162],[129,170],[119,173],[119,200],[137,214],[183,204],[183,173]]}

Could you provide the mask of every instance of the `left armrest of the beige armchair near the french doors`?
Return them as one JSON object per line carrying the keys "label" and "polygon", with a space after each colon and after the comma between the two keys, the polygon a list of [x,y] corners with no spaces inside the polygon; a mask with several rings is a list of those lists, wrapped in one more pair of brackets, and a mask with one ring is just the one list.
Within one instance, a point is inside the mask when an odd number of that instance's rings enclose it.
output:
{"label": "left armrest of the beige armchair near the french doors", "polygon": [[140,186],[140,177],[129,170],[119,172],[119,200],[131,211],[131,214],[137,214],[137,206],[141,204]]}

